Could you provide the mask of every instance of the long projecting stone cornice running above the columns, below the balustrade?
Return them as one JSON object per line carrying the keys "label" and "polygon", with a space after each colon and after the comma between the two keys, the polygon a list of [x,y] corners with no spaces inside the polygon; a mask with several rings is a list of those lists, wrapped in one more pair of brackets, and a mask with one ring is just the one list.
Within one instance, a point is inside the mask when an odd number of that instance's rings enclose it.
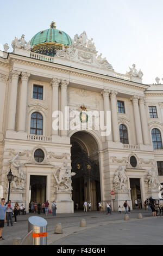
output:
{"label": "long projecting stone cornice running above the columns, below the balustrade", "polygon": [[[20,59],[20,58],[23,58],[23,59]],[[147,88],[149,87],[148,85],[139,84],[133,81],[121,80],[109,75],[93,73],[93,72],[89,72],[88,70],[77,69],[69,66],[63,66],[61,64],[45,62],[39,59],[32,59],[25,56],[14,55],[13,53],[10,53],[10,62],[12,62],[12,64],[20,63],[26,66],[35,66],[35,67],[43,68],[46,70],[48,69],[48,70],[52,70],[53,72],[67,74],[69,76],[74,75],[82,78],[96,80],[101,83],[104,83],[105,86],[107,86],[107,84],[111,84],[111,85],[117,85],[120,87],[134,88],[142,92],[146,91]],[[53,77],[51,77],[51,79],[52,78]]]}

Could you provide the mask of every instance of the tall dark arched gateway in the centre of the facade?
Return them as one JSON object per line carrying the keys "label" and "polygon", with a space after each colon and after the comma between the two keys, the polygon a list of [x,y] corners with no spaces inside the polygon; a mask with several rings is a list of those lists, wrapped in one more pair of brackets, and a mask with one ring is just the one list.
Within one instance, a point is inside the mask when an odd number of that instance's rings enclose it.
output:
{"label": "tall dark arched gateway in the centre of the facade", "polygon": [[98,209],[101,200],[101,186],[98,160],[98,145],[87,132],[71,136],[72,200],[83,209],[84,201],[91,202],[92,210]]}

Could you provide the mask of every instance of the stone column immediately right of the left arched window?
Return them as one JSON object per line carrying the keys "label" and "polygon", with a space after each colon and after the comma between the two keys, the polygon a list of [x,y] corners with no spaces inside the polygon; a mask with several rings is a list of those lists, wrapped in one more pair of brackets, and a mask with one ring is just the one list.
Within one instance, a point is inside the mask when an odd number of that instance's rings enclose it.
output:
{"label": "stone column immediately right of the left arched window", "polygon": [[58,130],[54,130],[53,129],[53,121],[56,118],[59,117],[53,117],[53,113],[54,111],[58,111],[59,107],[58,107],[58,87],[60,84],[60,80],[57,78],[53,78],[51,85],[52,85],[52,135],[58,136]]}

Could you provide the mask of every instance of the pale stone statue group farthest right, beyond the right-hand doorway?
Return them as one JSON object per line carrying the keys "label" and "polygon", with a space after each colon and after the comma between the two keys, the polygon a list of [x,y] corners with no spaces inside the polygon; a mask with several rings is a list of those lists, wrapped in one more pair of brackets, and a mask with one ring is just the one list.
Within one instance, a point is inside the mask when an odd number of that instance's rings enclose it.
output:
{"label": "pale stone statue group farthest right, beyond the right-hand doorway", "polygon": [[160,182],[158,178],[158,174],[156,170],[152,168],[152,170],[148,171],[147,177],[145,178],[145,182],[148,183],[148,189],[158,190],[160,187]]}

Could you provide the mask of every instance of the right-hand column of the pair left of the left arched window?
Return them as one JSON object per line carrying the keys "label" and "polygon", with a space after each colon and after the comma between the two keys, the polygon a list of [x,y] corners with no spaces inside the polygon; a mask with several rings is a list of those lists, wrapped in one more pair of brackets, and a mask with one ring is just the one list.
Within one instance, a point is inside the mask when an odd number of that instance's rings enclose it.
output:
{"label": "right-hand column of the pair left of the left arched window", "polygon": [[26,132],[27,88],[30,74],[22,72],[21,94],[18,114],[18,132]]}

